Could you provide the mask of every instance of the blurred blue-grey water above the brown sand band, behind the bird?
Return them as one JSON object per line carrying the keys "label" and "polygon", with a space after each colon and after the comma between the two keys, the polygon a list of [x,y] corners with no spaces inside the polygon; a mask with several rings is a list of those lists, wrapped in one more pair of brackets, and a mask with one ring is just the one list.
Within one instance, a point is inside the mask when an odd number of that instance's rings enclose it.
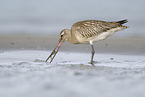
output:
{"label": "blurred blue-grey water above the brown sand band, behind the bird", "polygon": [[145,37],[144,0],[0,0],[0,34],[59,34],[88,19],[128,19],[113,36]]}

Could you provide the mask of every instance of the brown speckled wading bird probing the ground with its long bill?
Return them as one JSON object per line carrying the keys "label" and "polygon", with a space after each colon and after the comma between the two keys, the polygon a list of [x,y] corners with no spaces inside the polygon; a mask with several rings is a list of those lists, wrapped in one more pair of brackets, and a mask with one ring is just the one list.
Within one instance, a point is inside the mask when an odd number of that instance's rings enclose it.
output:
{"label": "brown speckled wading bird probing the ground with its long bill", "polygon": [[63,29],[60,32],[59,42],[45,62],[50,59],[49,62],[51,63],[62,43],[68,41],[73,44],[90,44],[92,49],[90,64],[94,65],[93,58],[95,50],[93,43],[104,40],[115,32],[128,28],[128,26],[123,25],[127,22],[127,19],[113,22],[101,20],[84,20],[76,22],[72,25],[71,29]]}

